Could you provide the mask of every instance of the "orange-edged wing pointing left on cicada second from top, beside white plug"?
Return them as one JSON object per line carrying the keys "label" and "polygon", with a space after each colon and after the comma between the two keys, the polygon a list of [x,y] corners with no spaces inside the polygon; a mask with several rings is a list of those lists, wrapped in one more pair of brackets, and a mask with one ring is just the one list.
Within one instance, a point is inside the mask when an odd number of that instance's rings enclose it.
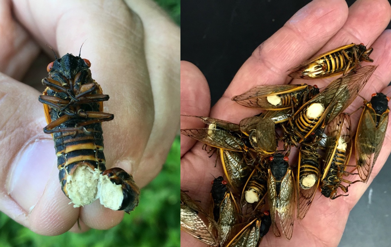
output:
{"label": "orange-edged wing pointing left on cicada second from top, beside white plug", "polygon": [[[257,86],[251,88],[246,93],[237,95],[232,98],[238,104],[247,107],[266,109],[266,110],[282,110],[291,108],[291,106],[284,106],[282,100],[278,100],[278,95],[291,93],[307,88],[307,84],[303,85],[268,85]],[[272,97],[272,98],[269,98]],[[275,101],[277,100],[277,101]]]}

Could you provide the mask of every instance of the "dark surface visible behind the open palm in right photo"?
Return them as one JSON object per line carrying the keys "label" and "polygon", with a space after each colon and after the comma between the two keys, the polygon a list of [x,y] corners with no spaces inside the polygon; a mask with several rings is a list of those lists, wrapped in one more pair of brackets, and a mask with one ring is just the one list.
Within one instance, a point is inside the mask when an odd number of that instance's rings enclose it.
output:
{"label": "dark surface visible behind the open palm in right photo", "polygon": [[[181,60],[194,63],[203,72],[209,83],[212,106],[256,47],[308,2],[310,1],[181,2]],[[350,6],[355,1],[346,2]],[[391,246],[389,174],[390,159],[351,211],[339,247]]]}

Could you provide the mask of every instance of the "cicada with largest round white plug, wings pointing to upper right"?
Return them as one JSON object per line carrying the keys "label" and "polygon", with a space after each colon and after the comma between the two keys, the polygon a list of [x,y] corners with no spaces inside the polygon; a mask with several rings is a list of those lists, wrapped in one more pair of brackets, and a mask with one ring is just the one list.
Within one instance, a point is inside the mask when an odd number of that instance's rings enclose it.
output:
{"label": "cicada with largest round white plug, wings pointing to upper right", "polygon": [[324,128],[353,102],[375,69],[375,66],[364,66],[351,71],[301,106],[289,122],[282,125],[285,142],[297,146],[318,127]]}

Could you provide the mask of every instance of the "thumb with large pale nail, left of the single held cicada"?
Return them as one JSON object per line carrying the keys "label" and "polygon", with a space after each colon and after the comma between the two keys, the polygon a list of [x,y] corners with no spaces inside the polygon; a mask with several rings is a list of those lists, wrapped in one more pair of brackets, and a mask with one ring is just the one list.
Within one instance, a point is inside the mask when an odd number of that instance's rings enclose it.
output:
{"label": "thumb with large pale nail, left of the single held cicada", "polygon": [[79,209],[61,192],[39,94],[0,73],[0,210],[36,233],[55,235],[74,225]]}

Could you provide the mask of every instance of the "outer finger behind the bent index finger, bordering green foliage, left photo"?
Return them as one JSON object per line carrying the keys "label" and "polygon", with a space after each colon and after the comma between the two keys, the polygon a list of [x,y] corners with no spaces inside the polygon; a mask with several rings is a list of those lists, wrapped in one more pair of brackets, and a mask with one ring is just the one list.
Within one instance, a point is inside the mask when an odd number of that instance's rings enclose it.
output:
{"label": "outer finger behind the bent index finger, bordering green foliage, left photo", "polygon": [[155,121],[140,169],[133,174],[142,181],[138,184],[142,187],[160,172],[179,127],[180,30],[156,2],[125,2],[143,22],[145,55],[155,107]]}

